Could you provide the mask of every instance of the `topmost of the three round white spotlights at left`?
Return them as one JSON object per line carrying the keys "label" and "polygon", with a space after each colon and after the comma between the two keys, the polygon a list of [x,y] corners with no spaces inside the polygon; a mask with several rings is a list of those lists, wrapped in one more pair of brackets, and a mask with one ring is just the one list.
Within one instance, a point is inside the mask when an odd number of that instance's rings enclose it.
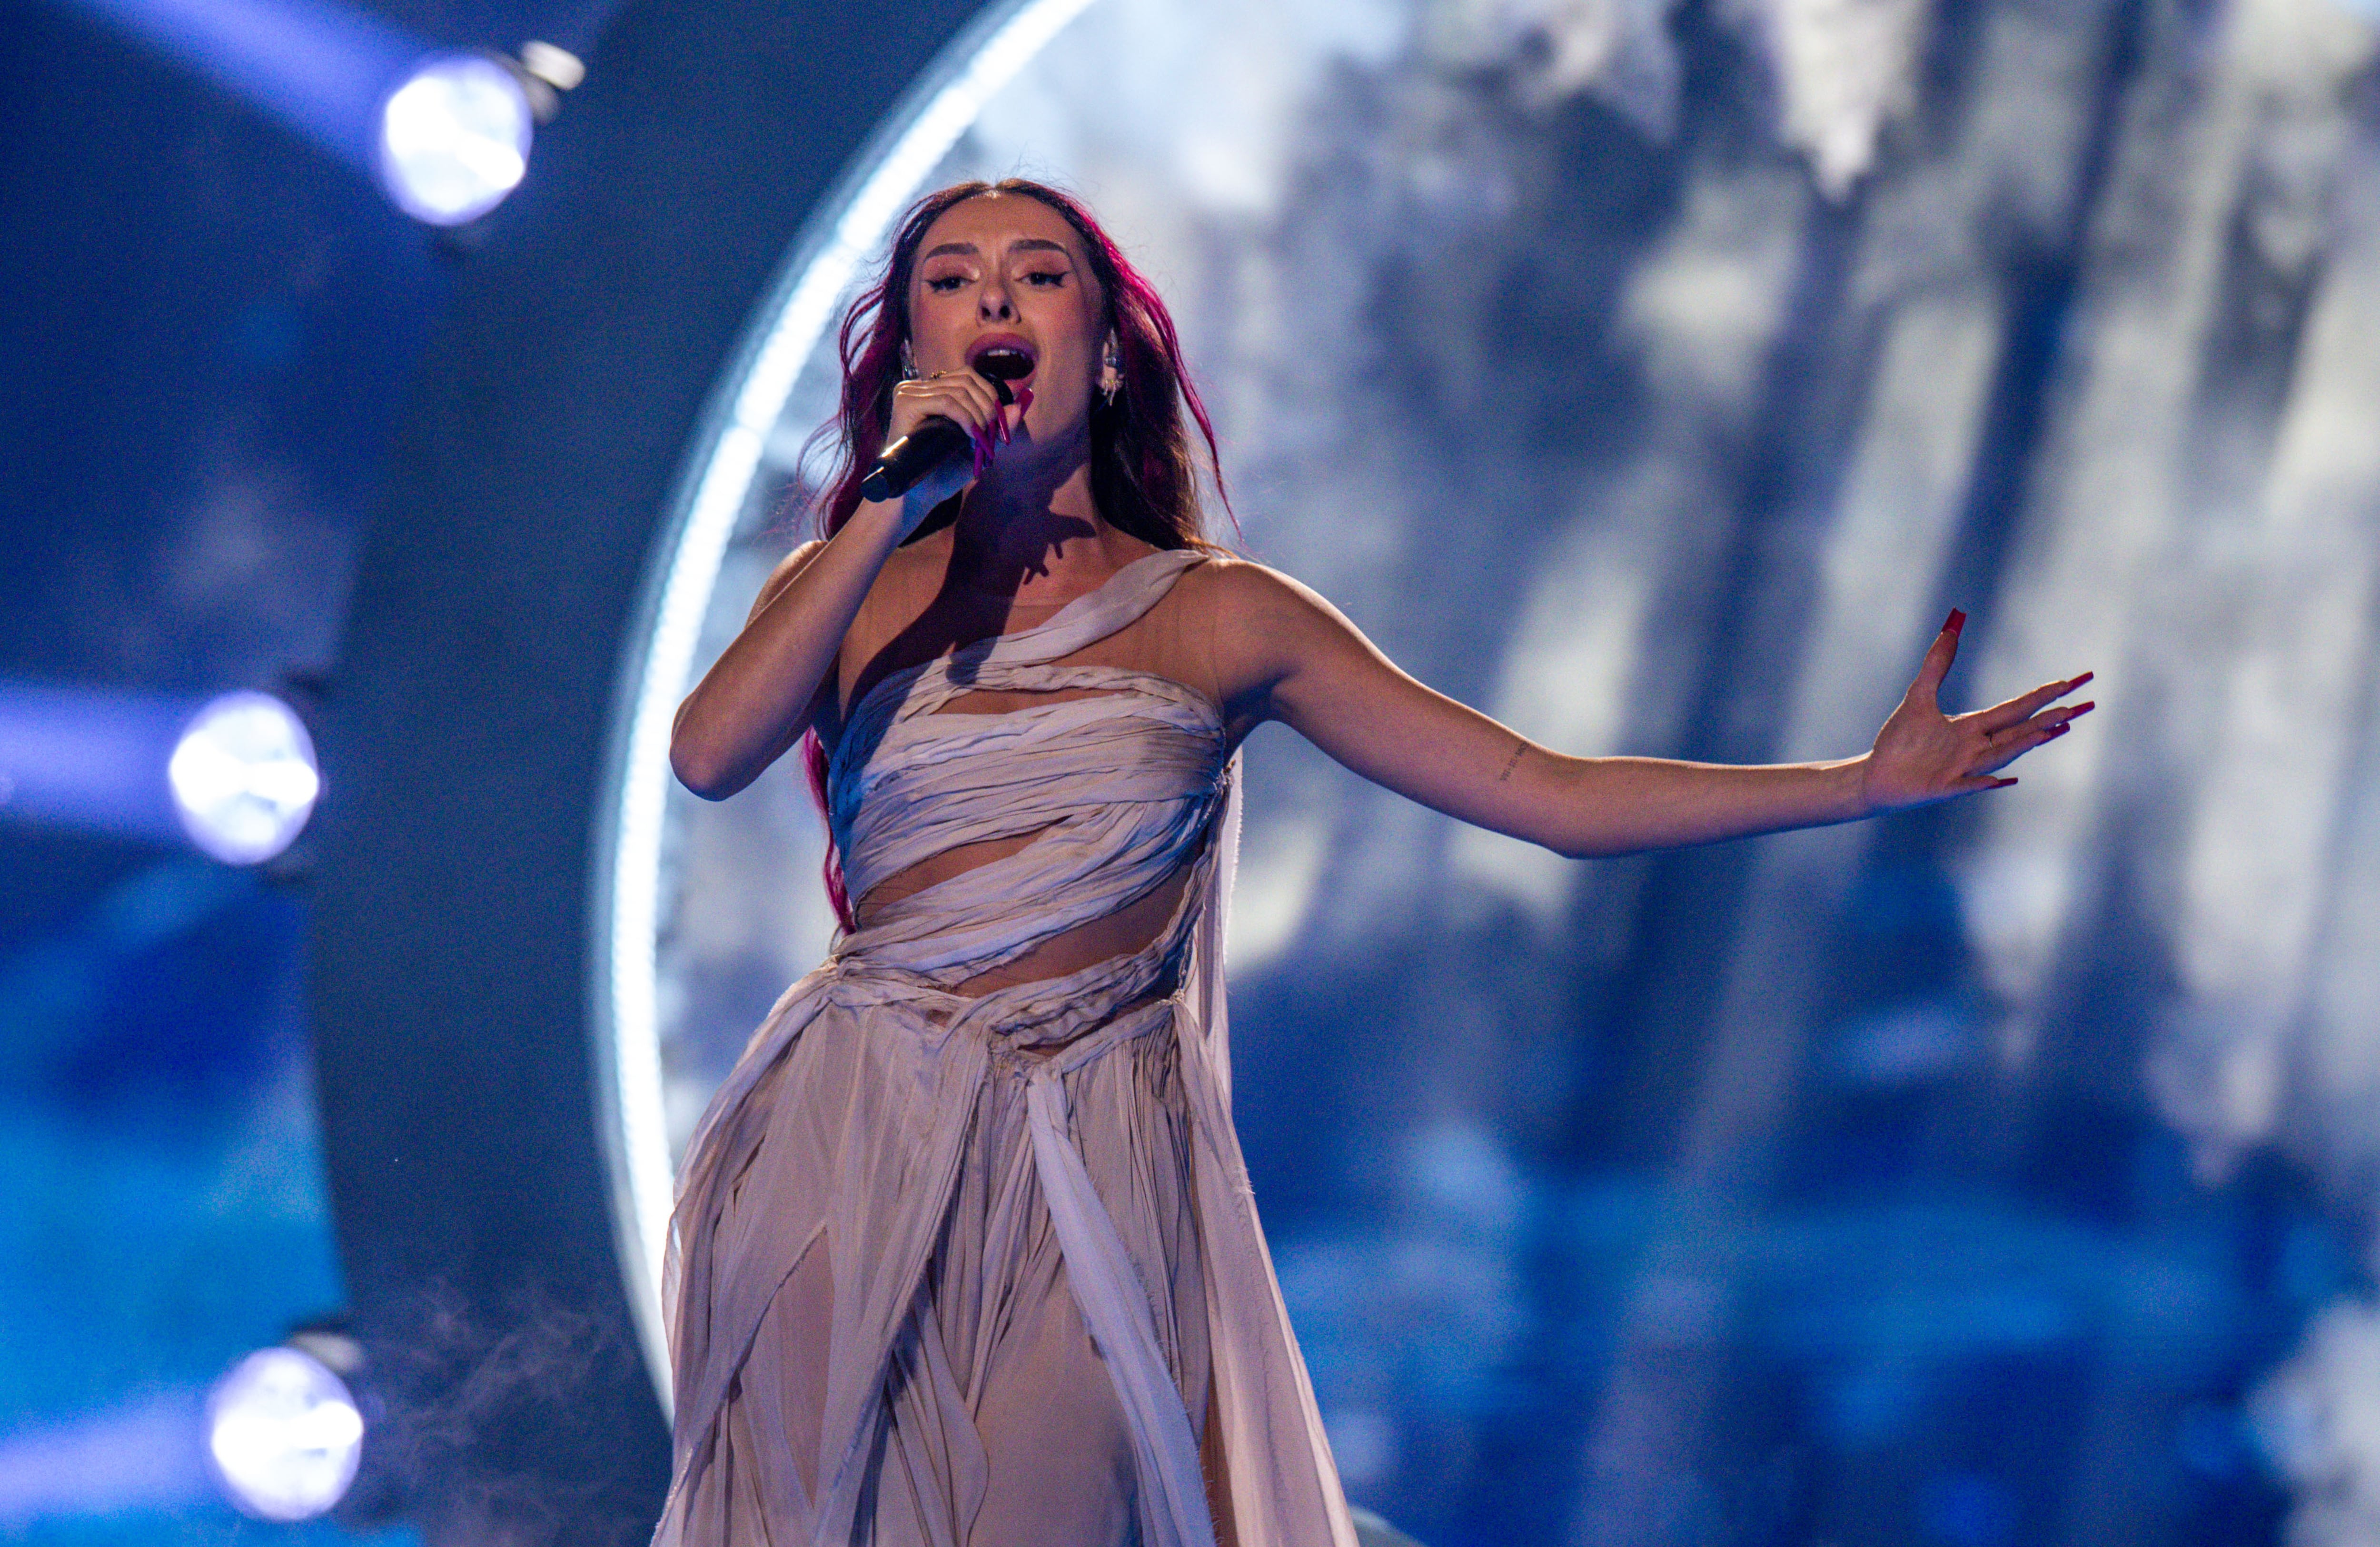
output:
{"label": "topmost of the three round white spotlights at left", "polygon": [[416,221],[478,219],[519,188],[533,124],[516,74],[486,55],[433,55],[381,105],[381,183]]}

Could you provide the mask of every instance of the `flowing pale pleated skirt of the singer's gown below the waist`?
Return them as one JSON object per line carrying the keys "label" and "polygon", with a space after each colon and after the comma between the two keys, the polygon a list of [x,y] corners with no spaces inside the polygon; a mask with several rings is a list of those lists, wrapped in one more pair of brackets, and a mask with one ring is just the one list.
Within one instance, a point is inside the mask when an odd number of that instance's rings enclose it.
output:
{"label": "flowing pale pleated skirt of the singer's gown below the waist", "polygon": [[678,1176],[654,1547],[1357,1547],[1230,1126],[1223,835],[1130,957],[962,997],[864,931],[785,990]]}

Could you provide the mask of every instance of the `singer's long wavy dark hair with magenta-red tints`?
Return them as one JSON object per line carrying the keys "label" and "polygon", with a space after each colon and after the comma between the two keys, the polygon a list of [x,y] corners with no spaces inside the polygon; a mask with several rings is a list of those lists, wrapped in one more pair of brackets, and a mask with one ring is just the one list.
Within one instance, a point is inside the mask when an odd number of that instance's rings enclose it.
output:
{"label": "singer's long wavy dark hair with magenta-red tints", "polygon": [[[1107,328],[1116,333],[1121,386],[1111,400],[1092,395],[1090,405],[1090,497],[1116,531],[1152,547],[1214,547],[1200,514],[1197,426],[1207,450],[1207,469],[1216,495],[1230,512],[1223,488],[1223,457],[1216,450],[1214,421],[1190,381],[1173,314],[1157,288],[1123,257],[1078,198],[1033,178],[997,183],[952,183],[923,195],[892,233],[892,250],[876,283],[866,286],[843,314],[835,352],[843,362],[843,397],[835,416],[819,426],[812,445],[833,438],[835,462],[816,502],[819,536],[831,538],[859,509],[859,483],[876,464],[892,424],[892,388],[900,383],[902,345],[909,343],[909,278],[916,274],[916,250],[933,221],[947,209],[985,193],[1009,193],[1054,209],[1090,259],[1107,302]],[[1185,416],[1188,409],[1188,416]],[[1238,514],[1233,514],[1238,526]],[[802,766],[819,812],[828,812],[826,743],[816,731],[802,735]],[[843,883],[843,854],[835,847],[833,821],[826,833],[826,895],[843,928],[859,928],[852,897]]]}

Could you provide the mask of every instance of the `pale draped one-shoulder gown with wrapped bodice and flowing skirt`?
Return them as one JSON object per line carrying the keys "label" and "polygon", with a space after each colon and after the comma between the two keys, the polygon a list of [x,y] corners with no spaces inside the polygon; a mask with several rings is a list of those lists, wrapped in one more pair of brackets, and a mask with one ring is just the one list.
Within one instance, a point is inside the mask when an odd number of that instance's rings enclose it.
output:
{"label": "pale draped one-shoulder gown with wrapped bodice and flowing skirt", "polygon": [[[854,897],[1033,838],[840,935],[695,1130],[657,1547],[1354,1547],[1230,1123],[1238,759],[1204,695],[1069,662],[1197,562],[1135,559],[852,707]],[[1147,947],[952,992],[1183,866]]]}

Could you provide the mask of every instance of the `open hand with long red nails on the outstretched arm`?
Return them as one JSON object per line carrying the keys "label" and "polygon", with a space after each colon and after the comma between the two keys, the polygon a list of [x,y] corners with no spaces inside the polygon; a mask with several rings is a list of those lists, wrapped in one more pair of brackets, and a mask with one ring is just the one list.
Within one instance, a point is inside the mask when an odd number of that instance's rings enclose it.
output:
{"label": "open hand with long red nails on the outstretched arm", "polygon": [[2066,735],[2075,716],[2092,712],[2092,704],[2049,707],[2087,683],[2092,674],[2085,671],[2063,683],[2042,683],[2033,693],[2021,693],[1990,709],[1942,714],[1937,702],[1942,678],[1959,659],[1959,628],[1964,626],[1964,612],[1949,614],[1933,650],[1925,652],[1918,681],[1909,683],[1902,704],[1875,733],[1875,747],[1861,769],[1861,797],[1868,814],[1880,816],[1952,795],[2013,785],[2013,778],[1999,778],[2002,769],[2044,740]]}

